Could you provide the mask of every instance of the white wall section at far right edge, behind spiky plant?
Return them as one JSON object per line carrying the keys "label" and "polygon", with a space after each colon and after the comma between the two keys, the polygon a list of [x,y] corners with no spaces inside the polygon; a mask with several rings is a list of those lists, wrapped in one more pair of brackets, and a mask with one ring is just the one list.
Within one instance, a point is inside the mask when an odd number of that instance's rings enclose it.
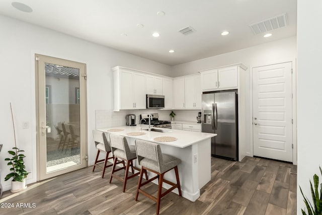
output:
{"label": "white wall section at far right edge, behind spiky plant", "polygon": [[[311,202],[309,179],[317,174],[321,180],[318,167],[322,168],[321,10],[320,0],[297,1],[297,183]],[[305,206],[297,189],[298,214],[300,208]]]}

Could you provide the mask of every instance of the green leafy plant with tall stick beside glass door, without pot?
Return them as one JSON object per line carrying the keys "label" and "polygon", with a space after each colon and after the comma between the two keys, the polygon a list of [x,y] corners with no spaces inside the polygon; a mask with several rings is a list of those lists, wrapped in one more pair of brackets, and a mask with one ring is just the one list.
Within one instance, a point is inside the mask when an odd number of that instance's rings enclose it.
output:
{"label": "green leafy plant with tall stick beside glass door, without pot", "polygon": [[17,148],[14,115],[13,115],[13,112],[12,112],[11,103],[10,103],[10,110],[11,110],[12,124],[13,124],[13,127],[14,127],[15,147],[12,148],[13,151],[8,151],[8,153],[10,155],[12,155],[12,158],[6,158],[5,159],[5,161],[9,161],[8,166],[12,166],[10,168],[10,171],[13,171],[13,172],[9,173],[5,177],[5,181],[8,181],[10,178],[13,178],[13,181],[22,182],[27,177],[29,172],[26,171],[26,166],[24,165],[24,163],[25,163],[24,158],[26,156],[21,154],[21,152],[24,152],[24,151]]}

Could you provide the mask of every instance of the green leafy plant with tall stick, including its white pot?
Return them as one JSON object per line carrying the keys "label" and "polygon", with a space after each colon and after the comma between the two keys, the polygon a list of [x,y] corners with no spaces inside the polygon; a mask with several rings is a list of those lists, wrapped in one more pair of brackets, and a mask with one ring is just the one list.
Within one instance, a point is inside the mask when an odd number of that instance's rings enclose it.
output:
{"label": "green leafy plant with tall stick, including its white pot", "polygon": [[25,155],[21,154],[21,152],[24,152],[24,150],[20,150],[17,148],[17,141],[16,141],[16,132],[15,132],[15,123],[14,123],[14,116],[12,113],[12,107],[10,103],[10,109],[11,109],[11,116],[12,116],[12,123],[14,127],[14,136],[15,136],[15,147],[12,148],[13,151],[8,151],[8,153],[12,156],[11,158],[6,158],[5,161],[8,162],[8,166],[12,166],[10,168],[11,173],[9,173],[5,177],[5,181],[8,181],[9,179],[12,179],[11,182],[11,192],[19,192],[24,190],[26,186],[26,177],[28,176],[29,172],[26,171],[26,166],[24,162]]}

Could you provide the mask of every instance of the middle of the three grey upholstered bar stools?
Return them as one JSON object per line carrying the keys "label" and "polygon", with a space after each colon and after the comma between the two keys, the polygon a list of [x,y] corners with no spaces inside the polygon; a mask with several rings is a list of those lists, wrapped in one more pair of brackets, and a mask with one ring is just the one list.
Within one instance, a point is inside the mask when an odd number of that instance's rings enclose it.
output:
{"label": "middle of the three grey upholstered bar stools", "polygon": [[[140,174],[140,172],[134,173],[134,169],[137,171],[140,171],[140,169],[133,166],[133,160],[136,159],[135,146],[129,146],[125,137],[115,135],[115,134],[110,134],[110,141],[111,141],[112,152],[114,155],[114,163],[113,163],[110,183],[112,182],[113,177],[122,181],[123,192],[125,192],[127,180]],[[126,161],[126,166],[115,169],[118,159],[121,159],[123,162]],[[130,167],[131,167],[132,175],[128,176]],[[118,175],[114,174],[115,172],[123,169],[125,169],[124,178],[121,178]],[[145,178],[147,179],[146,171],[145,171]]]}

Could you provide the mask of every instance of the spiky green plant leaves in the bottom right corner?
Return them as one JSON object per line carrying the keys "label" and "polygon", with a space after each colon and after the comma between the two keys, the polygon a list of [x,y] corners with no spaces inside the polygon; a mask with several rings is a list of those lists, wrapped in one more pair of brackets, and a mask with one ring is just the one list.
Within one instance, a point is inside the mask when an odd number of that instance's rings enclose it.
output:
{"label": "spiky green plant leaves in the bottom right corner", "polygon": [[[322,169],[321,167],[319,167],[320,169],[320,173],[322,175]],[[300,191],[302,193],[303,196],[303,201],[305,203],[307,212],[305,212],[305,209],[301,209],[302,210],[302,214],[303,215],[322,215],[322,185],[320,185],[320,190],[318,191],[318,176],[316,174],[314,174],[313,176],[313,182],[314,182],[314,188],[312,186],[312,182],[310,180],[310,187],[311,187],[311,194],[312,194],[312,200],[313,200],[313,205],[312,203],[308,200],[308,198],[306,196],[304,196],[302,189],[300,187]]]}

